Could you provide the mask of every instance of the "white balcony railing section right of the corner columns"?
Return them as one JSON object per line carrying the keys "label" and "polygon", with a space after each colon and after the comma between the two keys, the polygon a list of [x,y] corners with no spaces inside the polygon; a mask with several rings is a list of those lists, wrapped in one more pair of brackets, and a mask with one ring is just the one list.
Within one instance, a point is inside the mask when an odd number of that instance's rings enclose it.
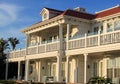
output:
{"label": "white balcony railing section right of the corner columns", "polygon": [[68,42],[68,49],[87,48],[100,45],[107,45],[120,42],[120,31],[84,36],[82,38],[72,39]]}

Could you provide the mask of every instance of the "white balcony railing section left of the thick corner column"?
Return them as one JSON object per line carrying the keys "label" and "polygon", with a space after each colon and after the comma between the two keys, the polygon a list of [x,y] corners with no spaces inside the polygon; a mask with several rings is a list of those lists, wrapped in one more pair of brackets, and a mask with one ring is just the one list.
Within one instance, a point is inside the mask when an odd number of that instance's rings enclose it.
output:
{"label": "white balcony railing section left of the thick corner column", "polygon": [[46,44],[41,44],[36,46],[30,46],[22,50],[20,49],[16,51],[11,51],[9,53],[9,58],[18,58],[18,57],[24,57],[26,55],[58,51],[58,49],[59,49],[59,42],[46,43]]}

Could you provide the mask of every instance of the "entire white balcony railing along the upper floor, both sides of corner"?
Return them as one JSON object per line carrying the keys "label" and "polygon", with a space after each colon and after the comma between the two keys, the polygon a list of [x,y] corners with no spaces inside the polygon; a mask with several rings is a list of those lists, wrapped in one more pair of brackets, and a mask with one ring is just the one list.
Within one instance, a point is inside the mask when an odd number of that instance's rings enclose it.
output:
{"label": "entire white balcony railing along the upper floor, both sides of corner", "polygon": [[[63,42],[63,50],[82,49],[96,47],[108,44],[120,43],[120,30],[107,32],[105,34],[80,35],[70,39],[68,42]],[[67,44],[67,46],[66,46]],[[35,45],[26,49],[12,51],[9,53],[9,58],[24,57],[26,55],[42,54],[46,52],[54,52],[59,50],[59,41],[46,42],[41,45]]]}

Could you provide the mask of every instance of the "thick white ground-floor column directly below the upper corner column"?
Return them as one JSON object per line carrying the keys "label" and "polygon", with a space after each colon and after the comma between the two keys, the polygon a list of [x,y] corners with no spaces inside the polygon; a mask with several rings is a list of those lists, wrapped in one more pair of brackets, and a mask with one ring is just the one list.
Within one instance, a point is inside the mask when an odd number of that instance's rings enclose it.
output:
{"label": "thick white ground-floor column directly below the upper corner column", "polygon": [[62,57],[57,57],[57,82],[62,82],[61,71],[62,71]]}

